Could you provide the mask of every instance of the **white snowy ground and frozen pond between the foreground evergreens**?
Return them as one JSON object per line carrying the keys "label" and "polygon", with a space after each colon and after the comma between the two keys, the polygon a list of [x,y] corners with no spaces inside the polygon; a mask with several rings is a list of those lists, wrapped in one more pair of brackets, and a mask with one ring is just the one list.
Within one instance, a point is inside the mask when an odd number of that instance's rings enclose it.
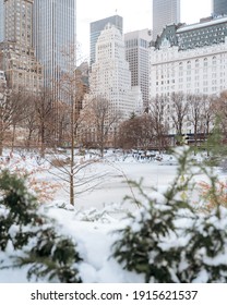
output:
{"label": "white snowy ground and frozen pond between the foreground evergreens", "polygon": [[[111,257],[111,245],[117,239],[113,231],[123,228],[129,211],[139,209],[129,200],[123,200],[126,196],[139,197],[136,188],[130,187],[128,181],[139,182],[143,179],[144,190],[152,192],[151,187],[156,187],[162,192],[172,182],[177,164],[170,156],[163,156],[163,160],[157,161],[111,155],[107,160],[94,166],[93,171],[105,174],[93,192],[81,194],[75,198],[74,207],[69,205],[69,194],[65,190],[59,187],[53,198],[41,205],[41,209],[58,221],[61,233],[77,243],[80,254],[84,258],[80,264],[83,282],[143,282],[143,276],[122,270]],[[1,170],[4,168],[19,171],[26,168],[31,175],[39,181],[59,183],[59,179],[52,174],[56,169],[50,169],[48,162],[40,162],[36,156],[27,155],[24,158],[15,152],[9,162],[4,160],[1,162]],[[222,176],[226,178],[224,173]],[[203,176],[196,179],[202,181]],[[8,254],[11,254],[10,252],[9,247]],[[5,256],[0,254],[1,259],[5,259],[7,265]],[[26,268],[1,270],[0,282],[27,282]]]}

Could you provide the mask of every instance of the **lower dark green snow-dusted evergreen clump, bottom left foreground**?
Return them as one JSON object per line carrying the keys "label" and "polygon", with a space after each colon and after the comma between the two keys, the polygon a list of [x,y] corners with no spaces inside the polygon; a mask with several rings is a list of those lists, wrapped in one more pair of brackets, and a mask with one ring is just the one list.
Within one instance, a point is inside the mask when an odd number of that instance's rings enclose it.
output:
{"label": "lower dark green snow-dusted evergreen clump, bottom left foreground", "polygon": [[58,236],[52,228],[40,230],[37,241],[29,252],[16,258],[19,267],[31,266],[27,278],[47,278],[48,281],[58,280],[61,283],[80,283],[76,264],[81,257],[73,242]]}

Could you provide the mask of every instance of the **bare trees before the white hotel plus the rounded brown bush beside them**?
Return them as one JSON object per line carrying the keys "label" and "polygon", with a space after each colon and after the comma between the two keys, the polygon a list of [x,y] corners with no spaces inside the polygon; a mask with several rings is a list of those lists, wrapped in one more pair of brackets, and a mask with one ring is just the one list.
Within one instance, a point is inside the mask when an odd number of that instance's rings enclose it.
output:
{"label": "bare trees before the white hotel plus the rounded brown bush beside them", "polygon": [[[217,96],[174,93],[150,101],[146,113],[132,115],[119,129],[123,148],[163,150],[180,143],[182,136],[198,146],[207,138],[218,121],[227,138],[227,91]],[[187,137],[188,136],[188,137]]]}

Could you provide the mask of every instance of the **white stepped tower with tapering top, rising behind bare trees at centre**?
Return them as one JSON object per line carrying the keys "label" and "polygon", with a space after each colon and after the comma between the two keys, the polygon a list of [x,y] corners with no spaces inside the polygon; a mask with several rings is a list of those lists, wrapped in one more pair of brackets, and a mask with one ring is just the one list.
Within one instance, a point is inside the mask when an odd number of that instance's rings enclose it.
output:
{"label": "white stepped tower with tapering top, rising behind bare trees at centre", "polygon": [[104,119],[105,146],[116,146],[120,122],[130,119],[133,113],[141,114],[143,99],[141,88],[131,85],[123,35],[112,24],[107,24],[98,37],[95,63],[89,73],[89,93],[83,100],[82,118],[88,121],[82,121],[79,138],[89,146],[97,145],[99,138],[99,126],[89,112],[96,101],[100,106],[98,115]]}

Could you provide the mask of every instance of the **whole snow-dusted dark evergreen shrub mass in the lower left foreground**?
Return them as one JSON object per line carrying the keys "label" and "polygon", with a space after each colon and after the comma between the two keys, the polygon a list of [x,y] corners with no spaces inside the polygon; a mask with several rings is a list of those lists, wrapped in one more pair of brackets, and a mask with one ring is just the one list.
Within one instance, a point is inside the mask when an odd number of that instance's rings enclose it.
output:
{"label": "whole snow-dusted dark evergreen shrub mass in the lower left foreground", "polygon": [[[0,178],[0,249],[12,245],[12,266],[28,266],[27,278],[57,282],[81,282],[76,245],[57,234],[57,223],[41,215],[24,181],[4,171]],[[16,251],[20,249],[20,256]],[[22,253],[22,254],[21,254]],[[5,268],[2,266],[1,268]]]}

